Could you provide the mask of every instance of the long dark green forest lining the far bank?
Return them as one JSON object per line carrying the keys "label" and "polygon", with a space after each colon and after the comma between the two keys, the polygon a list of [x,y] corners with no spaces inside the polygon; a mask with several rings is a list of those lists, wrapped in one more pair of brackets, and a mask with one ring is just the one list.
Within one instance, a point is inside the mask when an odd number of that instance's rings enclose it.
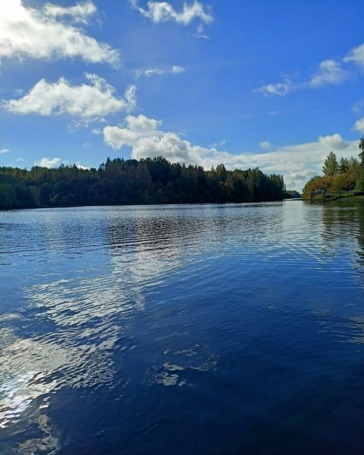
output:
{"label": "long dark green forest lining the far bank", "polygon": [[82,205],[275,201],[286,192],[283,176],[258,168],[233,171],[170,163],[107,159],[99,169],[76,165],[31,170],[0,167],[0,208]]}

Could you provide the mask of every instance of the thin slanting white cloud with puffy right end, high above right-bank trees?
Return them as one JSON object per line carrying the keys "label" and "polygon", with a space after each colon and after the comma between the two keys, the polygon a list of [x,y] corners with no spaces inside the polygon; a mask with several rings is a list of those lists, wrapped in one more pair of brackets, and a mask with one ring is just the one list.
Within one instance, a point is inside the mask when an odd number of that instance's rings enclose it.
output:
{"label": "thin slanting white cloud with puffy right end, high above right-bank trees", "polygon": [[337,85],[349,77],[349,73],[342,69],[339,62],[335,60],[324,60],[319,64],[319,69],[309,81],[293,82],[286,77],[283,82],[263,85],[253,90],[254,93],[262,93],[264,96],[279,95],[286,96],[296,90],[306,88],[318,88],[325,85]]}

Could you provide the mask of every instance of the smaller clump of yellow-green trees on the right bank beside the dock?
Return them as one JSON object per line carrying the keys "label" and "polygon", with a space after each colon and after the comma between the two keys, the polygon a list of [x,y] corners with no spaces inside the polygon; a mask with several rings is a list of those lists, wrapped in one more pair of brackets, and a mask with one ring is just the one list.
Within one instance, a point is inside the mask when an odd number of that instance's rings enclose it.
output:
{"label": "smaller clump of yellow-green trees on the right bank beside the dock", "polygon": [[303,198],[309,198],[314,190],[330,191],[364,191],[364,136],[359,142],[359,159],[337,159],[330,152],[323,166],[323,176],[315,175],[303,188]]}

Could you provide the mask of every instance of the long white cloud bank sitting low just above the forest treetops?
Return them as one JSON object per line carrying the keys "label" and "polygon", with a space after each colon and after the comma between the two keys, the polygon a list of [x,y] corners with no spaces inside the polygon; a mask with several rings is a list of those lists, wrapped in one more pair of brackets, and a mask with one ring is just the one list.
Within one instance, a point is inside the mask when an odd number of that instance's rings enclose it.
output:
{"label": "long white cloud bank sitting low just above the forest treetops", "polygon": [[128,116],[123,125],[103,129],[104,141],[114,149],[131,147],[134,159],[162,155],[171,162],[200,164],[205,168],[219,163],[230,169],[258,166],[266,173],[282,173],[287,187],[299,191],[308,178],[321,173],[325,158],[332,149],[339,150],[340,156],[347,158],[358,154],[358,141],[344,141],[336,133],[320,136],[316,142],[279,147],[273,152],[234,155],[215,147],[195,146],[174,132],[159,130],[160,125],[160,121],[144,115]]}

